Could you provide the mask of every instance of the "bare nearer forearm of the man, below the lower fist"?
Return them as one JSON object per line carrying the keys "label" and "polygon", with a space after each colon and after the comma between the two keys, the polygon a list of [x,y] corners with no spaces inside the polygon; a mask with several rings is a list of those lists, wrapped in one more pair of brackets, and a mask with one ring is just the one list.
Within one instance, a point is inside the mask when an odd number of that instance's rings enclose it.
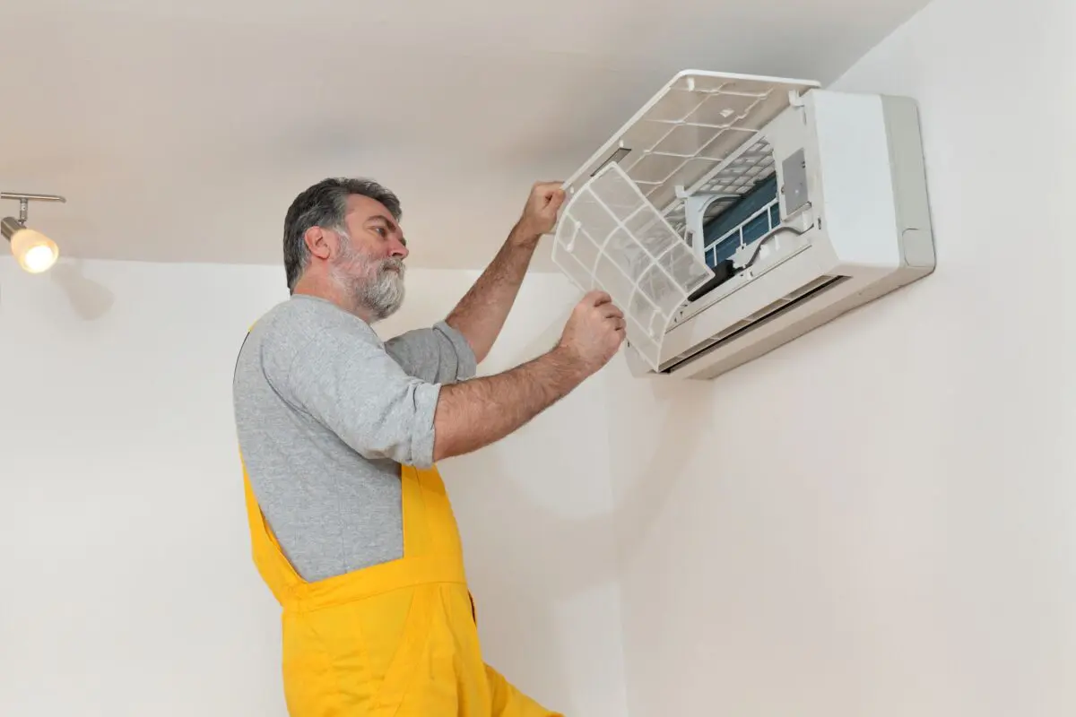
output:
{"label": "bare nearer forearm of the man, below the lower fist", "polygon": [[557,347],[493,376],[442,386],[434,415],[434,460],[482,448],[564,398],[590,372]]}

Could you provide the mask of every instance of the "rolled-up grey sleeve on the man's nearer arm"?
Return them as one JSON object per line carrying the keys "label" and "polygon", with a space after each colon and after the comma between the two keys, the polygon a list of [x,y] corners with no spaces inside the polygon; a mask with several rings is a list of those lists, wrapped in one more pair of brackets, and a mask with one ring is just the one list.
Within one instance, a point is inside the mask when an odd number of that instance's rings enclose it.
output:
{"label": "rolled-up grey sleeve on the man's nearer arm", "polygon": [[363,457],[429,468],[440,388],[408,375],[372,330],[329,329],[296,352],[280,390]]}

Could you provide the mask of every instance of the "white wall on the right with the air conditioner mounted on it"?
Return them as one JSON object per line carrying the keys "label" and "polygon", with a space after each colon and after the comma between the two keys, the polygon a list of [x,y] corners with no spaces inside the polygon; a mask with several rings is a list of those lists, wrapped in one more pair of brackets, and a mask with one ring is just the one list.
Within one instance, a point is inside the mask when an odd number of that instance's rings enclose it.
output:
{"label": "white wall on the right with the air conditioner mounted on it", "polygon": [[708,384],[615,362],[632,717],[1076,714],[1076,5],[988,4],[836,85],[919,99],[933,276]]}

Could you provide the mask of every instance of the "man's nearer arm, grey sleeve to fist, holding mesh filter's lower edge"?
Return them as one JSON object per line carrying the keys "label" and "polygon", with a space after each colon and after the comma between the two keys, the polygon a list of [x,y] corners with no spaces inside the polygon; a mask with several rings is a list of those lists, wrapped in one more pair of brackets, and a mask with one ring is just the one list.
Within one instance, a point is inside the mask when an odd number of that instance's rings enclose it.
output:
{"label": "man's nearer arm, grey sleeve to fist, holding mesh filter's lower edge", "polygon": [[367,324],[342,312],[291,331],[264,342],[274,390],[365,458],[426,468],[502,439],[605,365],[624,341],[624,314],[608,295],[587,293],[549,353],[453,384],[409,376]]}

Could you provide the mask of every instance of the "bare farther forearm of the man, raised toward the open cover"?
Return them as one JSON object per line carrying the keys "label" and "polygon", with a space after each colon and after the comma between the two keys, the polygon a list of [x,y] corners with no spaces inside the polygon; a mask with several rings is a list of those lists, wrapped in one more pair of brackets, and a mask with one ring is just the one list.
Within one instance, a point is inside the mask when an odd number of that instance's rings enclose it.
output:
{"label": "bare farther forearm of the man, raised toward the open cover", "polygon": [[479,362],[500,334],[538,245],[538,236],[524,232],[520,225],[512,229],[497,256],[445,319],[467,339]]}

